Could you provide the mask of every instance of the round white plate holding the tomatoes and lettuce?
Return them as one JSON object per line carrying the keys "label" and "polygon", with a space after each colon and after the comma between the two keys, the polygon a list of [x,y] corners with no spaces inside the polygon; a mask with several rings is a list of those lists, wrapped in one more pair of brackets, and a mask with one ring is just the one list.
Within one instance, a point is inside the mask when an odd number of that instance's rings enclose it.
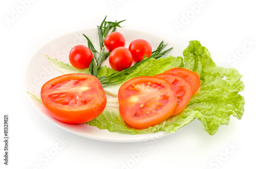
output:
{"label": "round white plate holding the tomatoes and lettuce", "polygon": [[[167,47],[174,47],[174,49],[171,50],[168,55],[182,56],[183,49],[181,49],[181,47],[177,46],[175,43],[164,38],[135,30],[127,30],[125,28],[118,29],[117,31],[122,33],[125,37],[126,47],[128,47],[130,42],[135,39],[145,39],[150,42],[154,51],[157,49],[159,43],[164,40],[165,43],[168,43],[166,49]],[[47,54],[49,57],[55,58],[58,61],[69,63],[68,54],[74,45],[84,44],[87,46],[87,40],[85,37],[83,37],[82,34],[87,35],[92,41],[96,50],[99,50],[97,29],[76,31],[53,39],[52,41],[42,46],[41,49],[32,56],[25,73],[25,85],[27,91],[35,94],[38,98],[40,98],[41,86],[48,80],[61,75],[59,71],[53,68],[51,64],[46,60],[44,54]],[[108,63],[106,64],[108,65]],[[109,132],[108,130],[100,130],[96,127],[92,127],[86,124],[65,124],[49,115],[49,113],[40,103],[31,98],[30,100],[37,111],[51,123],[71,133],[87,138],[112,142],[137,142],[161,138],[170,134],[164,131],[159,131],[153,134],[134,135],[126,132]]]}

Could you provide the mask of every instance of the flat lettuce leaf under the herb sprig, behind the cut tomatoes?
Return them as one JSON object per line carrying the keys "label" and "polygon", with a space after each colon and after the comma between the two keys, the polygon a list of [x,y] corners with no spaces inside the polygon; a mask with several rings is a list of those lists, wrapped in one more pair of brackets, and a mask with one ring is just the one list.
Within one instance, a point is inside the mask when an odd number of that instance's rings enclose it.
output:
{"label": "flat lettuce leaf under the herb sprig, behind the cut tomatoes", "polygon": [[[52,59],[48,55],[45,55],[47,60],[62,74],[71,74],[71,73],[84,73],[89,74],[89,69],[78,69],[75,68],[72,65],[69,65],[67,63],[58,62],[57,59]],[[173,67],[181,67],[183,66],[183,59],[182,57],[173,57],[169,56],[166,58],[160,58],[160,59],[150,59],[142,64],[140,64],[136,69],[133,71],[133,73],[129,75],[122,75],[122,76],[116,76],[114,77],[111,82],[117,82],[115,85],[108,85],[104,87],[104,91],[106,94],[110,94],[117,97],[118,89],[120,86],[126,82],[129,79],[139,77],[139,76],[154,76],[156,74],[163,73],[163,71],[168,70]],[[117,73],[118,71],[107,67],[102,66],[98,70],[98,78],[102,76],[110,76],[113,73]]]}

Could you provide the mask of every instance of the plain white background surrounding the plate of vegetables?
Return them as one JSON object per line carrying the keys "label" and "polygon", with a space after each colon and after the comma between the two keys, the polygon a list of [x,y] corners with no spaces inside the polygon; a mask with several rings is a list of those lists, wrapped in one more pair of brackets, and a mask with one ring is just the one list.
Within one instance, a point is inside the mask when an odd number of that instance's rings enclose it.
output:
{"label": "plain white background surrounding the plate of vegetables", "polygon": [[[27,2],[26,9],[21,2]],[[201,7],[195,8],[198,6]],[[253,1],[13,0],[1,1],[0,11],[1,136],[3,114],[10,116],[9,165],[3,164],[1,141],[1,168],[255,167],[256,10]],[[6,18],[12,19],[13,11],[20,14],[8,23]],[[217,65],[238,69],[245,84],[241,93],[245,96],[242,119],[231,116],[229,125],[221,126],[213,136],[203,131],[199,120],[194,120],[181,131],[155,142],[134,143],[92,140],[48,122],[33,108],[25,92],[24,72],[29,59],[55,37],[95,28],[105,15],[113,21],[126,19],[125,28],[169,39],[184,49],[189,40],[199,40]],[[189,18],[185,20],[185,16]],[[177,22],[183,27],[178,29]],[[247,41],[252,41],[251,46]],[[233,54],[238,57],[234,58]],[[56,145],[60,146],[59,139],[65,140],[61,149],[47,160],[41,160]]]}

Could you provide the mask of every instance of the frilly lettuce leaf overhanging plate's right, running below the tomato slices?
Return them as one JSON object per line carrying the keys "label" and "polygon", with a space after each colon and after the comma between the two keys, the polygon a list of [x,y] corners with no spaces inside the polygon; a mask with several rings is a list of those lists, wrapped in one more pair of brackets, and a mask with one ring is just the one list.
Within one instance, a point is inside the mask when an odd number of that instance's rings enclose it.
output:
{"label": "frilly lettuce leaf overhanging plate's right, running below the tomato slices", "polygon": [[[88,124],[99,129],[129,131],[132,134],[153,133],[159,130],[174,133],[197,118],[201,121],[202,128],[208,134],[214,135],[220,125],[228,125],[230,115],[241,119],[245,104],[243,96],[238,94],[244,90],[244,84],[240,80],[242,75],[236,69],[216,66],[209,51],[201,46],[199,41],[190,41],[183,55],[184,67],[200,75],[201,87],[182,113],[143,130],[125,126],[120,115],[114,111],[104,112]],[[158,67],[161,67],[161,63]]]}

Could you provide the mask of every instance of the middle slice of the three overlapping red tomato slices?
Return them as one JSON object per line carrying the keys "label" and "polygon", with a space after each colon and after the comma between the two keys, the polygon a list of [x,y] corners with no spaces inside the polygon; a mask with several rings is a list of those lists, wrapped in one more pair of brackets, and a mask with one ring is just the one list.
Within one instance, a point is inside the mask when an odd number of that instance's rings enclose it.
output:
{"label": "middle slice of the three overlapping red tomato slices", "polygon": [[176,74],[158,74],[156,77],[163,78],[173,85],[177,95],[177,107],[172,115],[182,112],[192,95],[193,87],[185,78]]}

